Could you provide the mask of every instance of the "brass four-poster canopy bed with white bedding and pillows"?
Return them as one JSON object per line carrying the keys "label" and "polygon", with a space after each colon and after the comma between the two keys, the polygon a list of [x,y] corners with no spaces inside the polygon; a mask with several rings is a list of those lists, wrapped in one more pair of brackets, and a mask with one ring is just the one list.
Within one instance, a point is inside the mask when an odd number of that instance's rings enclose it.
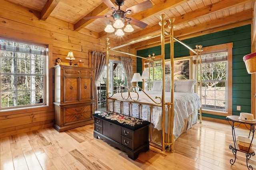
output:
{"label": "brass four-poster canopy bed with white bedding and pillows", "polygon": [[[170,73],[165,74],[162,71],[162,80],[154,81],[153,87],[150,91],[144,91],[139,87],[140,91],[134,91],[134,87],[125,87],[125,91],[122,93],[110,94],[108,92],[109,80],[107,76],[106,87],[106,110],[122,113],[132,117],[137,117],[149,121],[150,124],[150,137],[151,143],[160,146],[162,151],[169,148],[170,151],[174,151],[174,141],[180,134],[186,132],[198,121],[198,111],[200,116],[200,123],[202,121],[201,114],[201,91],[198,92],[198,86],[201,85],[200,61],[202,53],[202,45],[196,45],[196,49],[193,50],[186,44],[180,42],[173,36],[174,18],[169,19],[170,25],[166,32],[164,26],[166,25],[165,15],[160,16],[161,21],[161,62],[162,70],[165,70],[165,38],[170,38]],[[106,38],[106,60],[107,60],[107,73],[109,63],[109,51],[116,51],[118,47],[110,48],[108,38]],[[190,80],[178,80],[174,81],[174,40],[182,43],[182,45],[188,47],[195,53],[196,59],[196,71],[194,73],[194,79]],[[120,46],[122,47],[122,46]],[[128,54],[122,51],[116,51],[119,53]],[[132,55],[132,54],[128,54]],[[132,55],[135,57],[140,57]],[[153,61],[154,59],[140,57]],[[154,65],[154,64],[153,64]],[[157,87],[157,88],[154,88]],[[199,88],[200,89],[200,88]],[[196,93],[194,93],[196,92]],[[164,99],[164,100],[163,100]]]}

